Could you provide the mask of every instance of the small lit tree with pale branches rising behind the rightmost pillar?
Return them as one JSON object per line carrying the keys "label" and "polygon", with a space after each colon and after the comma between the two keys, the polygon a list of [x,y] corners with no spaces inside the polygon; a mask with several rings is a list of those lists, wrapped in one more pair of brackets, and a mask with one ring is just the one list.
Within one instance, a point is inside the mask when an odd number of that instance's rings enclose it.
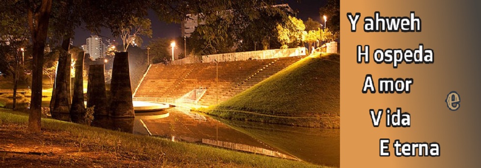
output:
{"label": "small lit tree with pale branches rising behind the rightmost pillar", "polygon": [[124,52],[127,52],[130,45],[139,47],[142,45],[143,40],[140,35],[152,37],[150,19],[131,17],[128,22],[120,24],[120,39],[122,39]]}

